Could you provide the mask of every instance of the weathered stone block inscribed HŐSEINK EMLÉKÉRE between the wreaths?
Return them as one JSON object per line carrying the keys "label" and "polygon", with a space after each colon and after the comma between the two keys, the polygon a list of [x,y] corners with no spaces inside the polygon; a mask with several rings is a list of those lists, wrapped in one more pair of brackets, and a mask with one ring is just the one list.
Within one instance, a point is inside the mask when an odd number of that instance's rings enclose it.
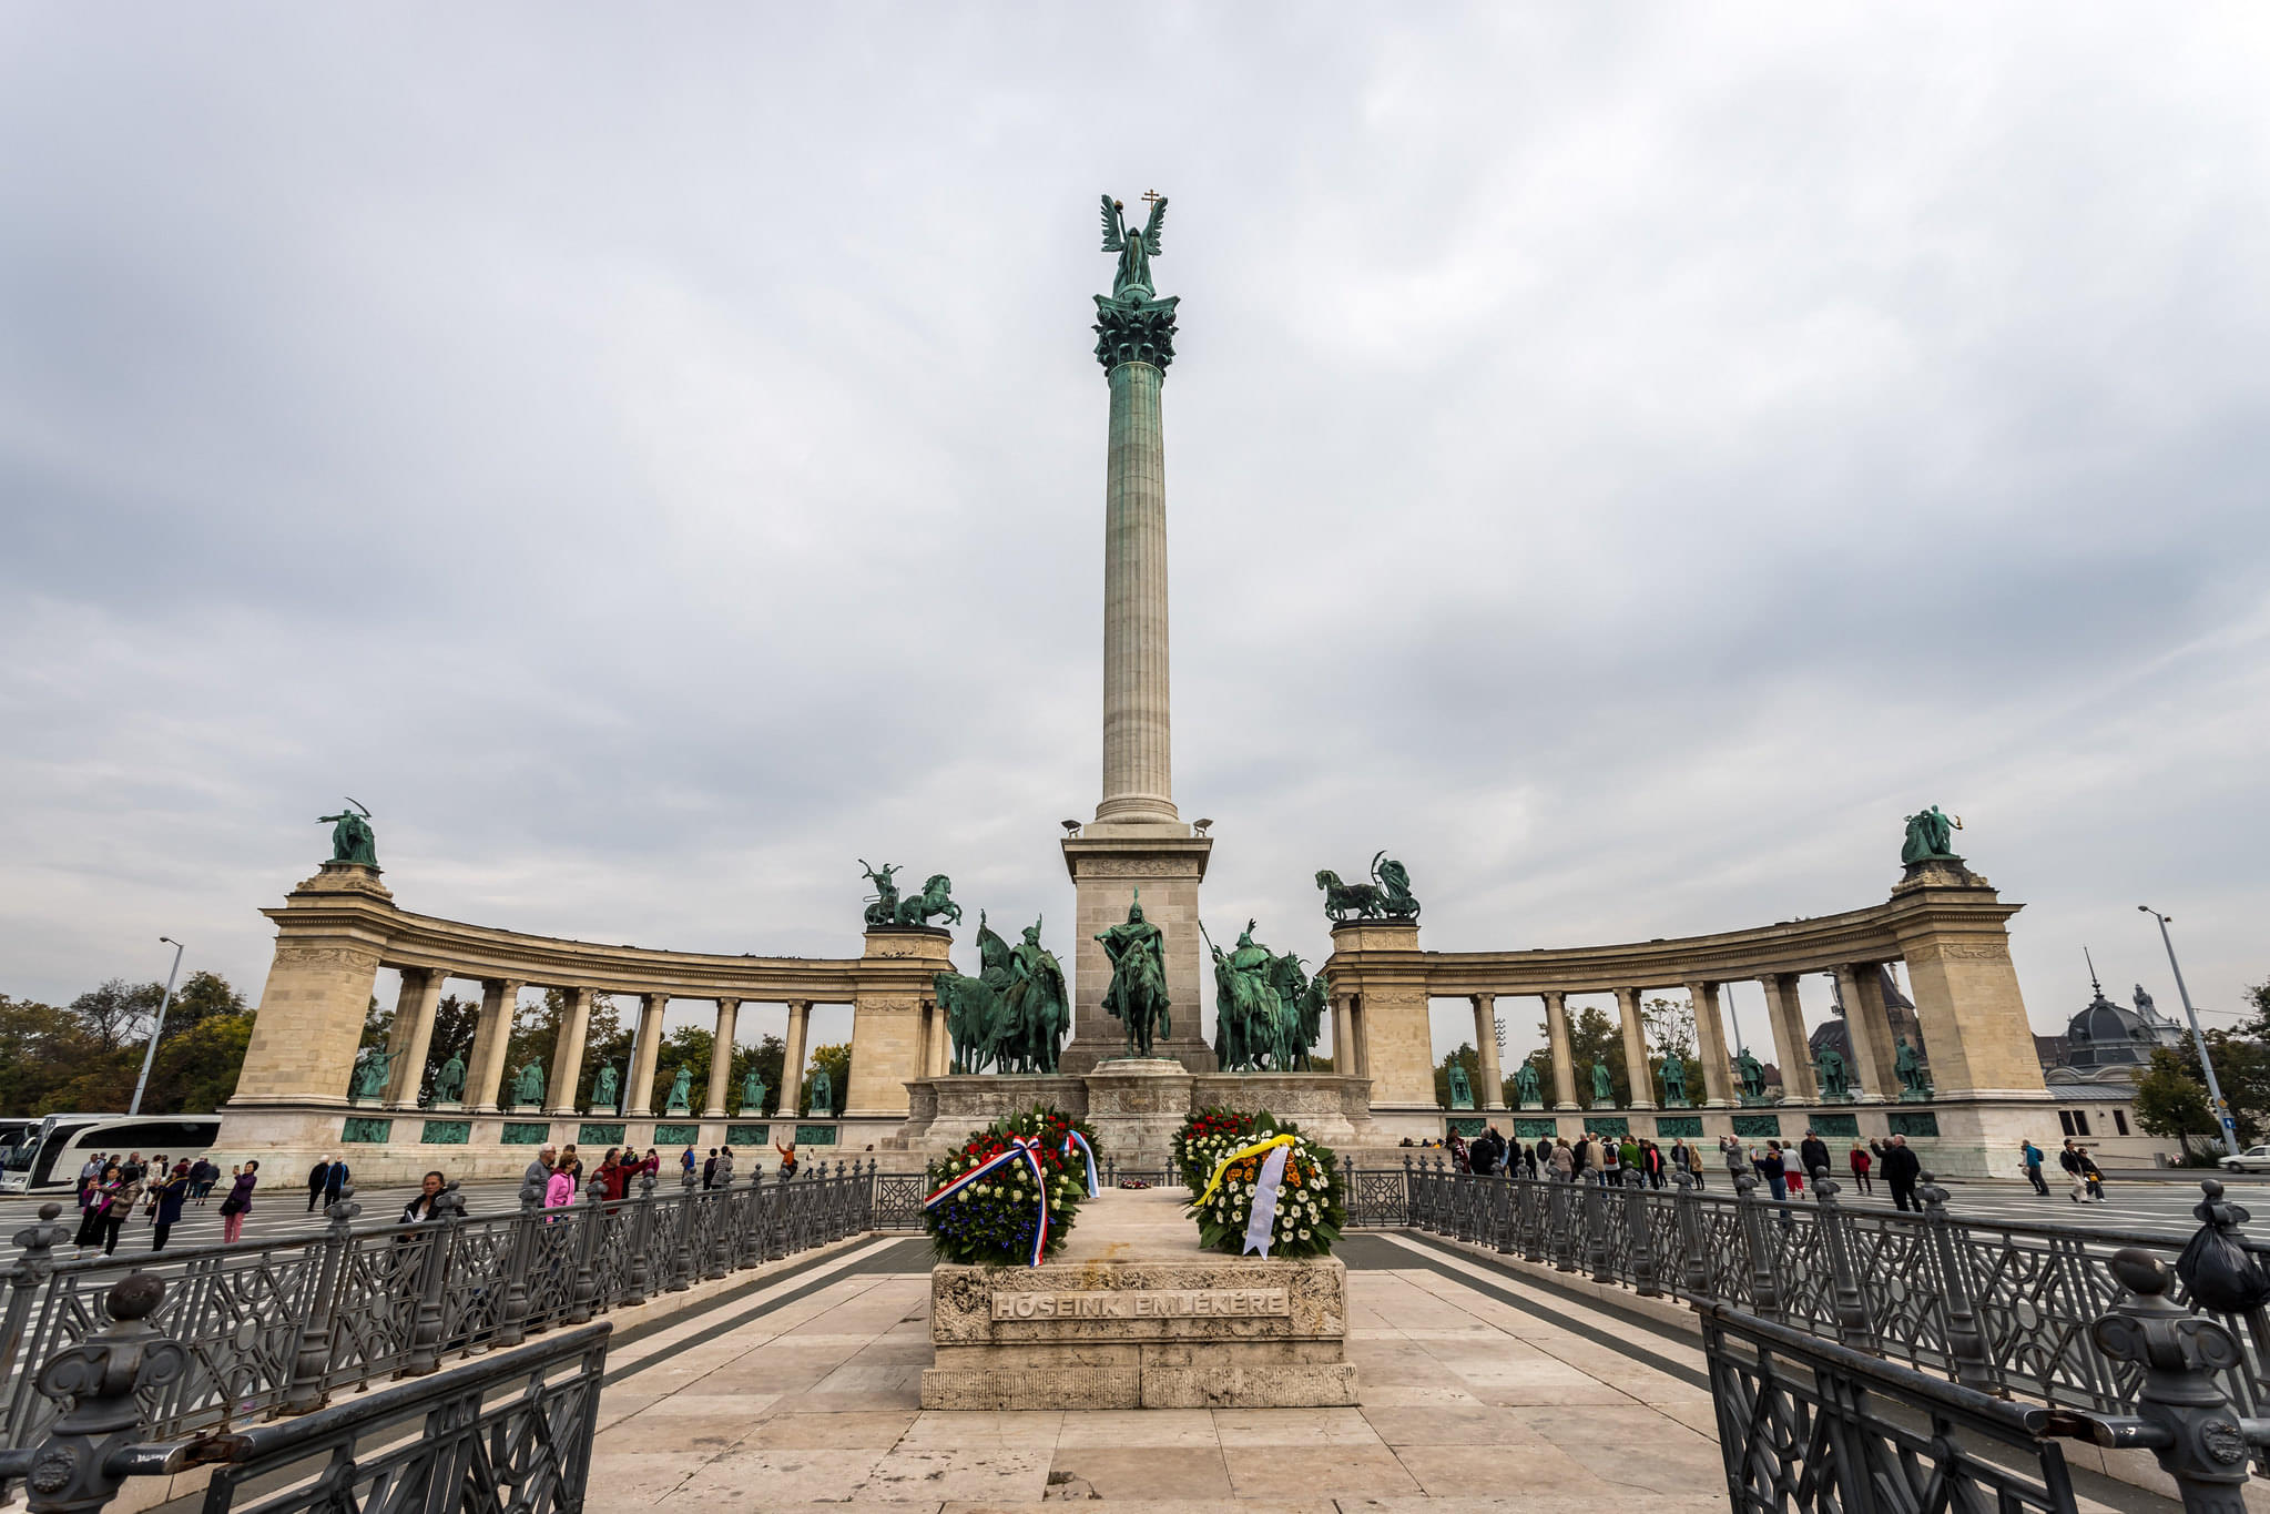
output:
{"label": "weathered stone block inscribed H\u0150SEINK EML\u00c9K\u00c9RE between the wreaths", "polygon": [[1183,1198],[1092,1198],[1044,1267],[935,1267],[922,1407],[1353,1405],[1346,1267],[1199,1251]]}

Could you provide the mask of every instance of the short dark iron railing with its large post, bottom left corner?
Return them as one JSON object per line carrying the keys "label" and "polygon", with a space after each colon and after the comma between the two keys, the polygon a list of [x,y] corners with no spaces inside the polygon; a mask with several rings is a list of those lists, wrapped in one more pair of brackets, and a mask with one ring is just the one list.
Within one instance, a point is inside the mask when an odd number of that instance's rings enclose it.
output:
{"label": "short dark iron railing with its large post, bottom left corner", "polygon": [[207,1514],[243,1494],[259,1514],[422,1509],[570,1514],[583,1507],[613,1323],[565,1330],[440,1378],[247,1430],[143,1441],[152,1389],[188,1348],[148,1323],[170,1292],[134,1273],[104,1296],[109,1323],[34,1373],[54,1405],[34,1444],[0,1450],[0,1496],[27,1484],[32,1514],[91,1514],[129,1478],[213,1466]]}

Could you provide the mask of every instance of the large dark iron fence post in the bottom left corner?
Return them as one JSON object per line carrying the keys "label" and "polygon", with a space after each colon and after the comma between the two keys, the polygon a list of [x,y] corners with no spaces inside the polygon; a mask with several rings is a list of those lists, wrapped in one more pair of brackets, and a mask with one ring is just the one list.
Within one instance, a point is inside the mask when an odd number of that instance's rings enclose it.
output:
{"label": "large dark iron fence post in the bottom left corner", "polygon": [[68,1346],[39,1369],[43,1398],[68,1403],[32,1446],[0,1450],[0,1491],[11,1478],[30,1484],[32,1514],[95,1514],[136,1471],[154,1471],[134,1444],[136,1394],[188,1371],[188,1351],[143,1323],[163,1301],[157,1273],[129,1273],[104,1298],[111,1323]]}

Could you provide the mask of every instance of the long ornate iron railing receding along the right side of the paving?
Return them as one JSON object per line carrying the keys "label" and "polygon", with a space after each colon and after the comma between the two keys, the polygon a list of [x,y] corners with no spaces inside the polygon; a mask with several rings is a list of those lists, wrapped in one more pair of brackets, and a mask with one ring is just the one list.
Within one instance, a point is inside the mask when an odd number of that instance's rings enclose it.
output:
{"label": "long ornate iron railing receding along the right side of the paving", "polygon": [[[1678,1178],[1675,1189],[1605,1187],[1416,1160],[1398,1174],[1355,1178],[1367,1189],[1355,1223],[1403,1223],[1641,1296],[1743,1310],[1984,1394],[2104,1414],[2136,1403],[2143,1369],[2095,1351],[2088,1330],[2127,1292],[2113,1276],[2120,1248],[2172,1264],[2181,1242],[1954,1217],[1932,1174],[1916,1189],[1923,1212],[1846,1208],[1825,1176],[1798,1201],[1768,1198],[1750,1174],[1737,1176],[1732,1196]],[[1398,1185],[1401,1221],[1385,1217]],[[2236,1237],[2243,1212],[2220,1201],[2213,1178],[2202,1187],[2200,1219],[2227,1223]],[[2181,1285],[2175,1298],[2191,1307]],[[2220,1387],[2245,1414],[2261,1414],[2270,1405],[2270,1312],[2222,1323],[2238,1351],[2220,1369]]]}

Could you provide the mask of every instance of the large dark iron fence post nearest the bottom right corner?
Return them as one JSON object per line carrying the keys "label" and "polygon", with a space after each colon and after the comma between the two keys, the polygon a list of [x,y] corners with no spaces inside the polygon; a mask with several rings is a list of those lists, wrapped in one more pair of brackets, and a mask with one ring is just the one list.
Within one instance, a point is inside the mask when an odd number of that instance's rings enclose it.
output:
{"label": "large dark iron fence post nearest the bottom right corner", "polygon": [[2150,1251],[2122,1246],[2111,1267],[2129,1298],[2088,1337],[2116,1362],[2141,1366],[2143,1391],[2134,1416],[2091,1416],[2091,1439],[2147,1448],[2191,1514],[2243,1514],[2247,1457],[2270,1444],[2270,1419],[2238,1414],[2216,1382],[2216,1373],[2245,1362],[2238,1337],[2220,1319],[2170,1301],[2170,1269]]}

